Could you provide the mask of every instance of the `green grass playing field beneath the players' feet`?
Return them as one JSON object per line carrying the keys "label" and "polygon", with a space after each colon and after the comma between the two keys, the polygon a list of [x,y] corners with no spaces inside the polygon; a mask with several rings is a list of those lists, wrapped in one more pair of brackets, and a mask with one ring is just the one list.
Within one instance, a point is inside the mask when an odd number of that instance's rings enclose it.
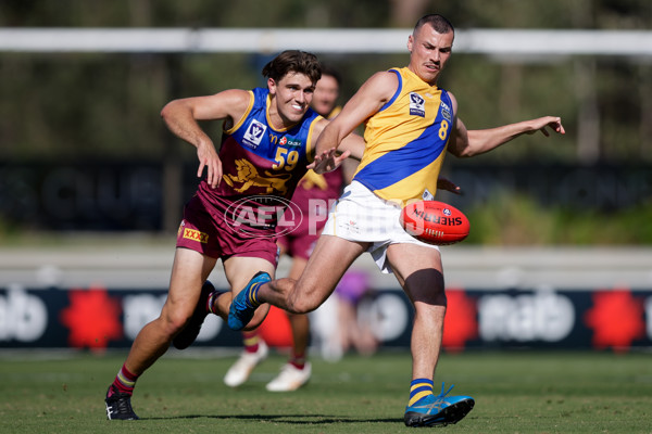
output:
{"label": "green grass playing field beneath the players' feet", "polygon": [[[210,356],[210,354],[209,354]],[[313,360],[299,392],[264,385],[284,357],[249,383],[222,376],[234,357],[164,356],[138,381],[140,421],[106,421],[103,395],[125,354],[22,353],[0,358],[2,433],[397,433],[410,381],[408,353],[337,363]],[[611,353],[444,354],[436,376],[475,409],[459,433],[652,433],[652,355]],[[438,384],[439,382],[439,384]]]}

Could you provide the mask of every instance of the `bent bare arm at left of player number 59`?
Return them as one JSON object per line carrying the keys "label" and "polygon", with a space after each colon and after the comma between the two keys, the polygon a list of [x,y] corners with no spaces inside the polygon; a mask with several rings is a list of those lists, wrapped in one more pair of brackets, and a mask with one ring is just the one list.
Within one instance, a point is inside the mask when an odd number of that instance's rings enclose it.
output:
{"label": "bent bare arm at left of player number 59", "polygon": [[226,119],[227,123],[238,120],[250,101],[244,90],[226,90],[210,97],[195,97],[174,100],[161,111],[161,117],[167,128],[179,139],[197,148],[201,177],[206,167],[206,182],[216,188],[222,179],[222,162],[211,138],[201,129],[198,120]]}

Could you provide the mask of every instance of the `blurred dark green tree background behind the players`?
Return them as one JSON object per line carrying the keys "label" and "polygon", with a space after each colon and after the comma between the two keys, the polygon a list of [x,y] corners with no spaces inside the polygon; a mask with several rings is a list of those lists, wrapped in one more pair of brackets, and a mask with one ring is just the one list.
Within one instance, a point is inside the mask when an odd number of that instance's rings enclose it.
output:
{"label": "blurred dark green tree background behind the players", "polygon": [[[3,0],[0,26],[408,29],[431,12],[446,15],[457,29],[652,28],[649,0]],[[373,47],[374,41],[368,43]],[[342,72],[343,102],[374,72],[405,65],[408,52],[321,58]],[[174,98],[261,86],[266,59],[233,53],[0,52],[0,164],[192,164],[193,149],[170,137],[160,110]],[[650,61],[584,55],[523,62],[454,54],[440,85],[456,95],[459,115],[469,128],[554,114],[562,116],[567,131],[554,139],[527,136],[464,164],[652,168]],[[220,135],[220,125],[206,128]],[[456,164],[454,158],[447,161],[453,168]],[[650,177],[643,182],[652,194]],[[650,226],[649,194],[627,207],[574,213],[527,196],[499,194],[490,202],[491,206],[485,201],[465,209],[474,226],[482,228],[472,233],[472,243],[652,243],[652,233],[645,233],[650,230],[637,230]],[[587,226],[588,221],[599,224]],[[163,224],[167,229],[171,225]],[[572,225],[585,225],[588,234],[569,231]],[[0,232],[8,228],[22,226],[7,218],[3,222],[0,216]]]}

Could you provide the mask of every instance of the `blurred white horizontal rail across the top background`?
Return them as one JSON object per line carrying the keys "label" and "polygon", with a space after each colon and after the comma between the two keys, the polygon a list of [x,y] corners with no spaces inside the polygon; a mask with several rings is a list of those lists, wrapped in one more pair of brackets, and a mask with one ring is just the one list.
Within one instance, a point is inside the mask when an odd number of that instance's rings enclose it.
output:
{"label": "blurred white horizontal rail across the top background", "polygon": [[[0,52],[404,53],[412,29],[0,28]],[[455,52],[547,62],[542,56],[652,59],[652,31],[457,29]]]}

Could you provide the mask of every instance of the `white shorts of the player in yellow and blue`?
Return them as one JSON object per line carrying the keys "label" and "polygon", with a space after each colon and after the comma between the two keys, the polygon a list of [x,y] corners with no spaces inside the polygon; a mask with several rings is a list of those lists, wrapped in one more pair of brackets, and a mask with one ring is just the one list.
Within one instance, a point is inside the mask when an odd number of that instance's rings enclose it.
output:
{"label": "white shorts of the player in yellow and blue", "polygon": [[378,197],[362,183],[353,181],[328,212],[322,234],[372,243],[367,252],[380,271],[391,273],[387,261],[387,247],[390,244],[418,244],[439,251],[437,245],[418,241],[405,232],[400,216],[400,205]]}

